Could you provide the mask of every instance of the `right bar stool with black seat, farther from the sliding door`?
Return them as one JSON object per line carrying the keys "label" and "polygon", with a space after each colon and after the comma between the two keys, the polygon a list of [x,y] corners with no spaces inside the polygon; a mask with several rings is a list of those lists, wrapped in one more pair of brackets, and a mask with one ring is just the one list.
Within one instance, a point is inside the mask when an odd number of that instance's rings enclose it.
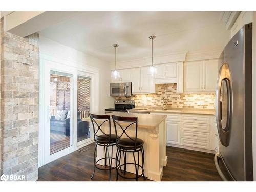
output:
{"label": "right bar stool with black seat, farther from the sliding door", "polygon": [[[144,153],[144,148],[143,148],[143,140],[137,138],[137,130],[138,130],[138,118],[137,117],[120,117],[120,116],[115,116],[112,115],[112,119],[114,122],[114,126],[115,126],[115,132],[116,132],[116,146],[117,146],[117,153],[116,153],[116,181],[118,181],[118,176],[121,176],[122,178],[125,179],[135,179],[136,181],[138,181],[138,178],[143,176],[144,179],[144,159],[145,159],[145,153]],[[124,127],[121,125],[122,123],[124,123],[123,125],[125,125]],[[118,125],[118,126],[117,126]],[[135,125],[135,130],[134,130],[134,126]],[[121,131],[120,136],[117,136],[117,127],[119,127],[119,130]],[[128,130],[133,130],[135,131],[135,134],[131,134],[131,133],[127,133]],[[121,138],[121,136],[127,136],[125,138]],[[122,152],[123,152],[123,159],[124,159],[124,163],[121,164],[121,156],[122,156]],[[138,162],[136,162],[136,158],[135,158],[135,153],[137,152],[138,155]],[[139,159],[139,152],[141,152],[142,155],[142,164],[140,165],[140,159]],[[133,159],[134,159],[134,163],[127,163],[126,162],[126,154],[127,153],[133,153]],[[118,160],[119,158],[119,160]],[[121,172],[123,172],[125,174],[126,172],[126,166],[130,164],[130,165],[135,165],[135,175],[136,177],[131,178],[131,177],[125,177],[123,175],[121,175],[118,172],[118,169],[120,168]],[[122,170],[122,167],[124,167],[124,170]],[[141,175],[139,174],[139,168],[141,168]]]}

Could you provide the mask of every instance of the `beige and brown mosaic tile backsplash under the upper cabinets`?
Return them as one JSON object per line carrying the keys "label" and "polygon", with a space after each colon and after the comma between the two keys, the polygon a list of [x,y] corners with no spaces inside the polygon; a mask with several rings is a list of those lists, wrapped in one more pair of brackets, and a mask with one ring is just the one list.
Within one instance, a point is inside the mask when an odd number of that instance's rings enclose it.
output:
{"label": "beige and brown mosaic tile backsplash under the upper cabinets", "polygon": [[162,98],[172,108],[215,109],[215,93],[177,93],[177,84],[157,84],[156,93],[116,97],[115,99],[134,99],[136,106],[162,107]]}

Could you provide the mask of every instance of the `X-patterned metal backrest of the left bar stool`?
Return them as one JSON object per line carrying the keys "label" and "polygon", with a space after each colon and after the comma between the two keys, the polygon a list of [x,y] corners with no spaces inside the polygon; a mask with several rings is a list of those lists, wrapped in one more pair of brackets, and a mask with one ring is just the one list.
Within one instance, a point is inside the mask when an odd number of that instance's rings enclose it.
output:
{"label": "X-patterned metal backrest of the left bar stool", "polygon": [[[93,124],[93,136],[94,136],[94,141],[96,141],[96,136],[97,137],[104,137],[107,136],[109,138],[110,142],[110,135],[111,135],[111,124],[110,124],[110,115],[95,115],[95,114],[89,114],[92,124]],[[96,122],[96,120],[102,120],[100,122]],[[109,129],[108,132],[103,130],[102,125],[105,123],[109,123]],[[95,126],[96,125],[96,126]],[[104,135],[104,136],[102,136]]]}

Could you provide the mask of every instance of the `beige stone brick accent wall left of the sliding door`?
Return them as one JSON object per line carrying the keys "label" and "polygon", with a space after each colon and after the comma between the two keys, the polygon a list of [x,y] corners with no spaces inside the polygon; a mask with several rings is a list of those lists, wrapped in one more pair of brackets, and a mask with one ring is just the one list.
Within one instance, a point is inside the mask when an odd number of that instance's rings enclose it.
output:
{"label": "beige stone brick accent wall left of the sliding door", "polygon": [[[1,19],[3,29],[3,19]],[[39,35],[1,30],[1,173],[38,176]]]}

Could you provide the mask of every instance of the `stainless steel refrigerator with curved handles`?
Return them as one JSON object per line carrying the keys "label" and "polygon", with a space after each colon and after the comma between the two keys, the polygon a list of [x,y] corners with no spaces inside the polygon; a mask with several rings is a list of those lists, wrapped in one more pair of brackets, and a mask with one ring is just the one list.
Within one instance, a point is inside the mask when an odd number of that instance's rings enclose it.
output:
{"label": "stainless steel refrigerator with curved handles", "polygon": [[215,165],[223,180],[253,181],[252,23],[232,37],[219,59]]}

